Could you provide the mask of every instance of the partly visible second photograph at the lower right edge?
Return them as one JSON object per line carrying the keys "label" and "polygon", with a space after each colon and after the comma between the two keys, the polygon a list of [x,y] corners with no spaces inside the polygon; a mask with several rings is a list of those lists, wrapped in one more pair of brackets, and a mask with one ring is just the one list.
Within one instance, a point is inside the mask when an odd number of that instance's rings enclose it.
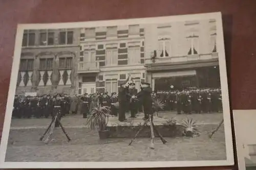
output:
{"label": "partly visible second photograph at the lower right edge", "polygon": [[255,118],[256,110],[233,110],[238,166],[241,170],[256,169]]}

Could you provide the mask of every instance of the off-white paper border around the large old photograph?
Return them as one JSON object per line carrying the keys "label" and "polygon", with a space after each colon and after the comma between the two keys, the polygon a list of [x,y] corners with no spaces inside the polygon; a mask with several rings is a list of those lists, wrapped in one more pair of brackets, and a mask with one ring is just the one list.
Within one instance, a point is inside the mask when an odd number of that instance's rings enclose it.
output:
{"label": "off-white paper border around the large old photograph", "polygon": [[[85,28],[100,26],[120,26],[136,24],[155,24],[176,21],[216,19],[217,28],[217,49],[219,53],[219,68],[222,91],[224,131],[226,143],[226,160],[210,161],[144,161],[144,162],[5,162],[8,136],[11,126],[12,108],[18,77],[20,53],[22,50],[23,32],[27,29],[63,29],[63,28]],[[231,131],[231,117],[229,109],[229,96],[226,72],[226,60],[224,50],[224,38],[221,12],[190,14],[164,17],[119,19],[119,20],[99,20],[86,22],[68,23],[44,23],[44,24],[20,24],[17,27],[15,50],[12,64],[12,72],[8,92],[8,100],[5,113],[2,141],[0,146],[0,168],[140,168],[140,167],[188,167],[188,166],[225,166],[233,165],[233,143]],[[209,139],[210,140],[210,139]]]}

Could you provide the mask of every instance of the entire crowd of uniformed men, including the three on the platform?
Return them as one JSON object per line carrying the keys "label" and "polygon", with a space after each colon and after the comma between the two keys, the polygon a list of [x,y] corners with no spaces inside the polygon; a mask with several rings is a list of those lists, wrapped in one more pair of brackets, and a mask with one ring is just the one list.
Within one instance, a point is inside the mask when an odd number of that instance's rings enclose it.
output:
{"label": "entire crowd of uniformed men, including the three on the platform", "polygon": [[[14,98],[13,116],[18,118],[54,117],[56,112],[61,116],[80,112],[84,118],[88,117],[94,107],[108,106],[111,114],[118,116],[120,122],[126,121],[125,113],[130,112],[130,117],[136,117],[139,111],[144,112],[144,119],[154,112],[153,104],[159,100],[164,104],[162,110],[176,111],[178,114],[222,112],[221,89],[186,89],[172,91],[152,91],[149,83],[141,83],[140,92],[135,88],[135,83],[121,84],[118,94],[113,92],[87,93],[73,97],[68,94],[17,96]],[[119,106],[116,104],[118,103]],[[56,109],[57,108],[57,109]]]}

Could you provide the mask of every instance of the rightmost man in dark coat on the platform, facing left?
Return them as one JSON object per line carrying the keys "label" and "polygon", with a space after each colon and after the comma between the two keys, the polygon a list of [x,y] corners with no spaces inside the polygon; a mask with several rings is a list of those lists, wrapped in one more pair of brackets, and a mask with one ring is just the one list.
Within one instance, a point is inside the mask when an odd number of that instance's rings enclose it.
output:
{"label": "rightmost man in dark coat on the platform, facing left", "polygon": [[[151,115],[153,119],[153,107],[152,107],[152,88],[149,83],[142,82],[141,83],[141,91],[136,95],[136,97],[142,102],[143,110],[144,110],[144,120],[147,120]],[[135,98],[136,98],[135,97]],[[134,98],[134,96],[132,97]]]}

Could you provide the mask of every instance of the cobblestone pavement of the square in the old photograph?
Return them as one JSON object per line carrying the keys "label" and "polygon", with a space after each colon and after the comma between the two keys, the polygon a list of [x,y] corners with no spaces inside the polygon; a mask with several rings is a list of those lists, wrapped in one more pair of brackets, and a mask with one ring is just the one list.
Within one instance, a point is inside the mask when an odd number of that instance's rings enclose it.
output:
{"label": "cobblestone pavement of the square in the old photograph", "polygon": [[[176,115],[175,115],[176,116]],[[177,115],[177,119],[182,119]],[[173,117],[173,116],[172,116]],[[216,122],[222,114],[190,115],[199,122]],[[200,119],[201,118],[201,119]],[[209,119],[210,118],[210,119]],[[211,120],[211,121],[210,121]],[[11,130],[8,141],[6,161],[175,161],[175,160],[223,160],[226,159],[224,129],[209,139],[206,132],[200,136],[159,138],[155,150],[149,149],[149,138],[138,138],[129,146],[131,139],[116,138],[99,140],[98,133],[87,128],[71,128],[86,122],[81,116],[63,117],[61,123],[71,137],[68,142],[61,129],[53,132],[49,144],[39,141],[45,128]],[[12,127],[46,127],[50,119],[13,119]],[[71,126],[70,128],[67,126]]]}

